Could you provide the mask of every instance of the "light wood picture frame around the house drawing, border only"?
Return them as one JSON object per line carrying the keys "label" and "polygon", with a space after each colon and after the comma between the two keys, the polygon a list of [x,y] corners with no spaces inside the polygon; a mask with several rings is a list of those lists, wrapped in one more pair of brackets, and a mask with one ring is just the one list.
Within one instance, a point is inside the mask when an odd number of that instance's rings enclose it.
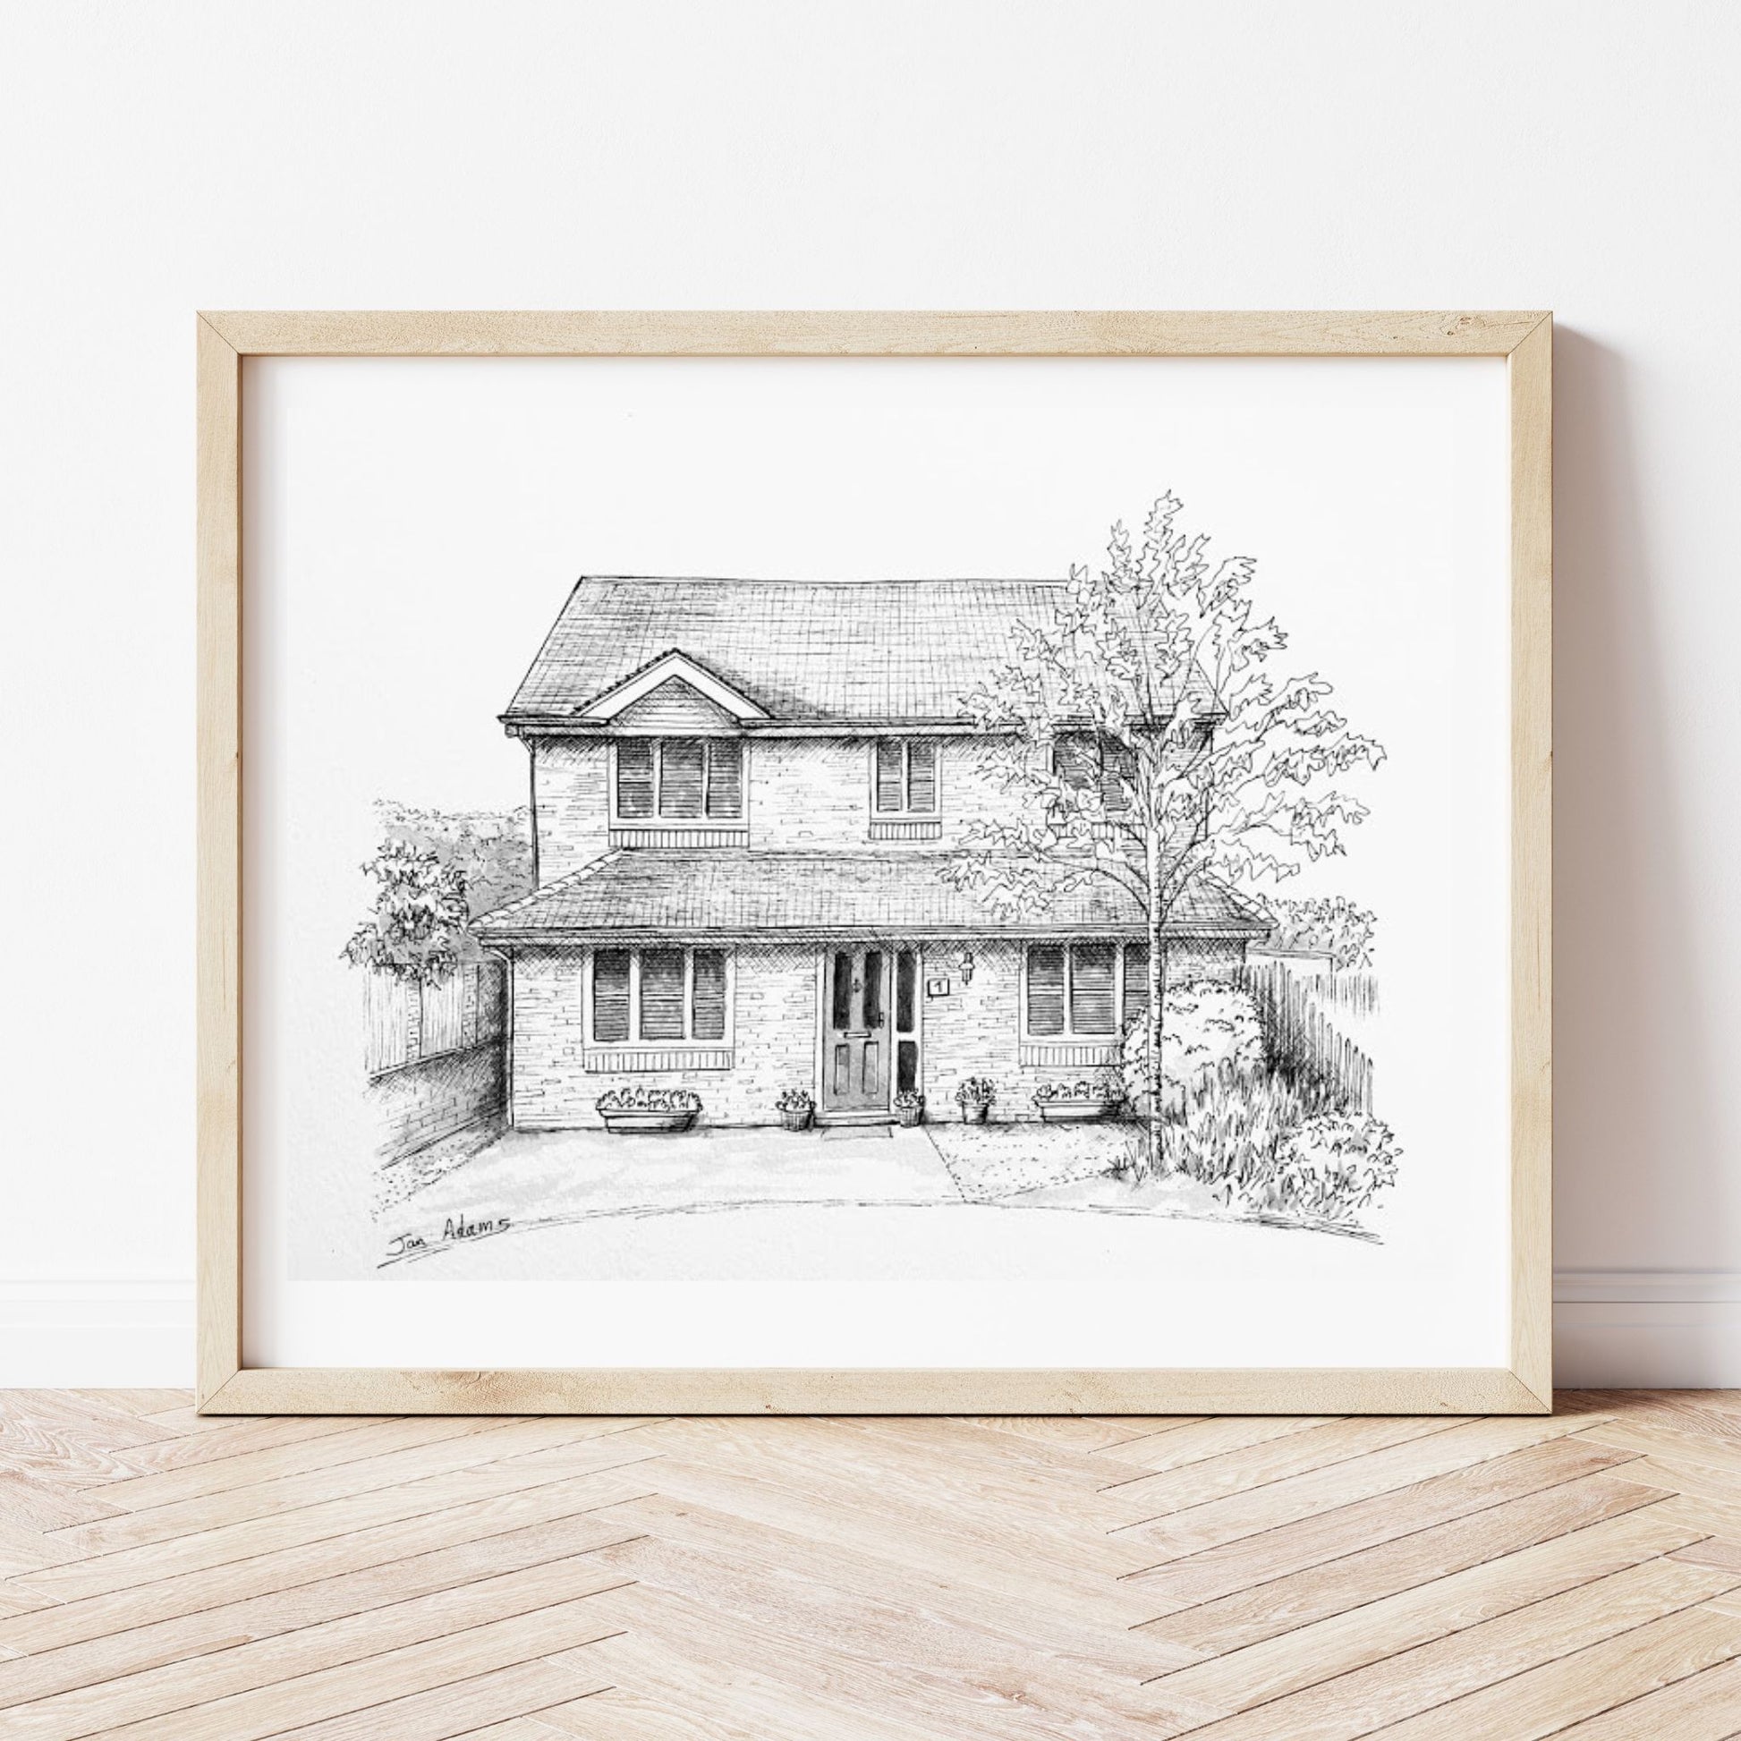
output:
{"label": "light wood picture frame around the house drawing, border only", "polygon": [[[207,1414],[1534,1414],[1551,1389],[1551,317],[273,313],[197,317],[198,1407]],[[1511,568],[1509,1360],[1473,1368],[376,1370],[242,1361],[242,380],[251,357],[1502,357]]]}

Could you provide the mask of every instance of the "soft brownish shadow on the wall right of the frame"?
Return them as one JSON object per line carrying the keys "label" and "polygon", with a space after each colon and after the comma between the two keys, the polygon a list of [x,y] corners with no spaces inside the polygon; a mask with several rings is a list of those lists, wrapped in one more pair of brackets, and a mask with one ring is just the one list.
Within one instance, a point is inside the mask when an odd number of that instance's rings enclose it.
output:
{"label": "soft brownish shadow on the wall right of the frame", "polygon": [[1710,956],[1677,789],[1630,366],[1555,333],[1555,1262],[1725,1267]]}

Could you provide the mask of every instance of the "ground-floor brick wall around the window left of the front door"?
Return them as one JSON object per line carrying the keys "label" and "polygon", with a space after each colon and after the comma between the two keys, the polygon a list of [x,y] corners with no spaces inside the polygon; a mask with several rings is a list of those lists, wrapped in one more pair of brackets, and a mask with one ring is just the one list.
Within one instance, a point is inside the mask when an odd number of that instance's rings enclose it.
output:
{"label": "ground-floor brick wall around the window left of the front door", "polygon": [[[529,1130],[599,1125],[609,1088],[693,1088],[710,1125],[775,1125],[782,1088],[817,1074],[817,952],[778,944],[736,951],[729,1069],[587,1071],[585,949],[533,949],[514,961],[514,1121]],[[681,1048],[669,1048],[681,1050]]]}

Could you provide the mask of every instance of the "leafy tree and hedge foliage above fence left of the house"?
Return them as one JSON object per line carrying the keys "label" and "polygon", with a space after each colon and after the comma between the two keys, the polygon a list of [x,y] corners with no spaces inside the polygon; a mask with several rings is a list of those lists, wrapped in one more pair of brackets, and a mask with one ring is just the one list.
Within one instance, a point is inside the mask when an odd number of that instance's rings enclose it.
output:
{"label": "leafy tree and hedge foliage above fence left of the house", "polygon": [[362,867],[369,914],[345,944],[352,966],[439,984],[482,954],[468,923],[533,888],[531,815],[376,806],[381,846]]}

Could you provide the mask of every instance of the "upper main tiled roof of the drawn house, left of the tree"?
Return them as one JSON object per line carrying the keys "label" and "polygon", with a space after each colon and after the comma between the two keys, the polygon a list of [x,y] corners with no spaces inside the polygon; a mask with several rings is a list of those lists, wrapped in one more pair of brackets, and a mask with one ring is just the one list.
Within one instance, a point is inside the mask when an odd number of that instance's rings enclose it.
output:
{"label": "upper main tiled roof of the drawn house, left of the tree", "polygon": [[676,651],[778,721],[954,721],[1062,585],[588,576],[501,717],[510,729],[573,719]]}

